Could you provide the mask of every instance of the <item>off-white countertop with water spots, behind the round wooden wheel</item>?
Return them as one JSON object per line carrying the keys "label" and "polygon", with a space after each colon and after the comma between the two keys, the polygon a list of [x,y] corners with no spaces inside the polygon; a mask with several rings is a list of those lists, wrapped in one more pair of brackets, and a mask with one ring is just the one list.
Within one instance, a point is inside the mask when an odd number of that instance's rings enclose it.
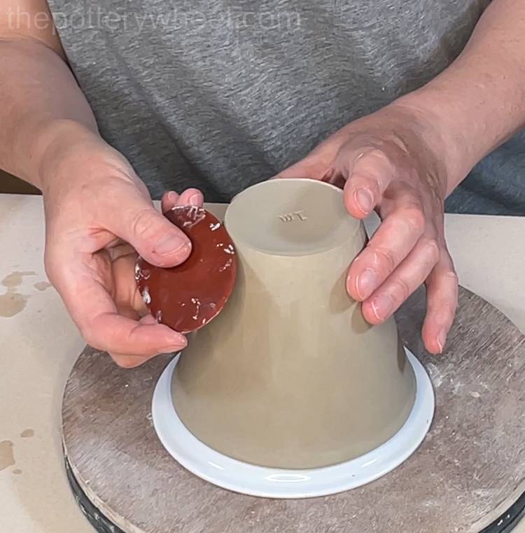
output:
{"label": "off-white countertop with water spots, behind the round wooden wheel", "polygon": [[[460,283],[525,332],[525,218],[445,222]],[[62,390],[84,343],[45,283],[43,243],[41,197],[0,194],[0,532],[93,533],[71,496],[60,441]]]}

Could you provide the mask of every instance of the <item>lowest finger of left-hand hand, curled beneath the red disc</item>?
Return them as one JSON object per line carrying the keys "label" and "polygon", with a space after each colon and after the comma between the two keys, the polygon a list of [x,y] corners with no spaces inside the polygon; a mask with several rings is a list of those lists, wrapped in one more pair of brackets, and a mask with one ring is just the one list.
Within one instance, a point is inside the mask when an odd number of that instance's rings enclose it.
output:
{"label": "lowest finger of left-hand hand, curled beneath the red disc", "polygon": [[[181,350],[186,337],[161,324],[137,322],[118,315],[116,304],[93,272],[93,256],[63,254],[57,265],[50,252],[50,269],[55,287],[64,299],[71,317],[90,346],[111,353],[151,357]],[[67,265],[67,266],[64,266]]]}

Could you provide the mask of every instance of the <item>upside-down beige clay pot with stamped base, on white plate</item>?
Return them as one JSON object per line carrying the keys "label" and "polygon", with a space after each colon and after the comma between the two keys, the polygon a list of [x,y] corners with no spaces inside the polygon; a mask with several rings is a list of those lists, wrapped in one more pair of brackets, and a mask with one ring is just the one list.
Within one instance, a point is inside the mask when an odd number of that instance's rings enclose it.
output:
{"label": "upside-down beige clay pot with stamped base, on white plate", "polygon": [[241,192],[224,224],[237,283],[174,371],[186,427],[221,453],[276,468],[325,467],[390,439],[414,405],[414,372],[393,318],[370,327],[346,294],[366,235],[342,191],[270,180]]}

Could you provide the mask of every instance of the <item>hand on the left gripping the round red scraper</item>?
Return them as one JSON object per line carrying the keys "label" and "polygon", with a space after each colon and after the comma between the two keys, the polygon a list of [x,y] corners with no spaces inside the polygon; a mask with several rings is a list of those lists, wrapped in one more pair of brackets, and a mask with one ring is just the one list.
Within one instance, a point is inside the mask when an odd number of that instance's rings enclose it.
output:
{"label": "hand on the left gripping the round red scraper", "polygon": [[[42,164],[48,277],[87,343],[121,367],[181,350],[186,338],[158,324],[141,299],[135,250],[174,266],[190,254],[190,241],[155,210],[122,155],[96,134],[74,135],[48,148]],[[202,201],[195,189],[169,192],[162,208]]]}

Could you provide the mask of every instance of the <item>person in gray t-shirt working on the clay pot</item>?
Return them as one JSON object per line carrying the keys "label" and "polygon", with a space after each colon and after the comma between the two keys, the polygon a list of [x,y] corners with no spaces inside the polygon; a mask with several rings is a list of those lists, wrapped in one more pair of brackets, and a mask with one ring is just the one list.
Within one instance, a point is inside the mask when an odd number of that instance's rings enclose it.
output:
{"label": "person in gray t-shirt working on the clay pot", "polygon": [[135,289],[136,252],[191,249],[151,195],[341,185],[382,219],[349,294],[377,324],[425,283],[432,353],[458,297],[445,199],[524,214],[522,0],[3,0],[0,21],[0,166],[42,190],[48,276],[123,367],[186,345]]}

